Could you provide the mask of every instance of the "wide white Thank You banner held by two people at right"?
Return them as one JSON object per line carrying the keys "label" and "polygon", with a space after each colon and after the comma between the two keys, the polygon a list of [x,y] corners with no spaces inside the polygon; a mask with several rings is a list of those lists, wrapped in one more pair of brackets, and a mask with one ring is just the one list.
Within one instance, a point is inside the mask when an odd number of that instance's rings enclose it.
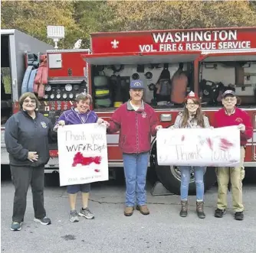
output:
{"label": "wide white Thank You banner held by two people at right", "polygon": [[240,163],[237,127],[160,129],[156,135],[159,165],[235,167]]}

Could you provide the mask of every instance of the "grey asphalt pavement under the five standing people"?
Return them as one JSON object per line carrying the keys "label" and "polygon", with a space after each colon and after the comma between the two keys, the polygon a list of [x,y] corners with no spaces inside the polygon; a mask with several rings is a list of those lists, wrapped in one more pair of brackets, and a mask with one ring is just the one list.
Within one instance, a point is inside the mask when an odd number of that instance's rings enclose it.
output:
{"label": "grey asphalt pavement under the five standing people", "polygon": [[47,226],[33,222],[29,190],[25,223],[20,232],[11,232],[14,189],[10,180],[5,180],[1,187],[1,252],[255,253],[256,184],[245,183],[244,189],[245,220],[239,222],[233,218],[231,209],[223,219],[213,217],[216,187],[205,196],[206,219],[198,219],[195,214],[195,196],[190,197],[189,216],[181,218],[179,196],[151,196],[150,193],[149,216],[136,211],[133,216],[125,217],[124,185],[96,183],[90,196],[90,209],[96,219],[71,223],[68,221],[69,207],[64,187],[46,187],[45,207],[52,220]]}

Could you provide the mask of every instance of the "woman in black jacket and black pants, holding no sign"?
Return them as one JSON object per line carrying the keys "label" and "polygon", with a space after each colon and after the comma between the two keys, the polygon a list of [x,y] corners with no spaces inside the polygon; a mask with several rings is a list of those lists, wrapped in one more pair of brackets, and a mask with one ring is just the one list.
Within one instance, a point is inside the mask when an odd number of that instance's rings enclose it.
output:
{"label": "woman in black jacket and black pants, holding no sign", "polygon": [[38,99],[26,92],[19,99],[20,112],[12,115],[5,125],[5,145],[9,153],[11,178],[15,198],[11,230],[21,230],[25,216],[28,187],[31,184],[34,222],[51,224],[44,209],[44,165],[48,163],[48,141],[54,139],[52,124],[37,112]]}

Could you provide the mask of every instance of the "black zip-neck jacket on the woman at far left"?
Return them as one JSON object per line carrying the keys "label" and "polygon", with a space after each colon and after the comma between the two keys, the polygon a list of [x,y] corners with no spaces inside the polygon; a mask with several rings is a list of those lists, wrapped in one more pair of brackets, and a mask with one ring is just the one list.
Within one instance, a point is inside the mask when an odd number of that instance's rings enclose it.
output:
{"label": "black zip-neck jacket on the woman at far left", "polygon": [[[50,159],[49,141],[56,140],[51,121],[39,112],[33,119],[25,111],[20,111],[5,124],[5,145],[9,153],[10,165],[38,167]],[[38,161],[28,160],[28,151],[38,152]]]}

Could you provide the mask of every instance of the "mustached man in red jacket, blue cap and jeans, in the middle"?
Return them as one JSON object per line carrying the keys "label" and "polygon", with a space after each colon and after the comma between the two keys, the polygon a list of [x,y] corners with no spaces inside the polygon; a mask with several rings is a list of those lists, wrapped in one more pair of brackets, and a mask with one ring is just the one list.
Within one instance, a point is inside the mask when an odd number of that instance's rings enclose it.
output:
{"label": "mustached man in red jacket, blue cap and jeans, in the middle", "polygon": [[143,82],[130,83],[130,100],[120,106],[106,122],[107,132],[120,131],[119,146],[123,152],[126,177],[125,216],[132,216],[134,206],[143,215],[149,214],[146,206],[146,170],[149,162],[151,135],[162,128],[154,109],[143,102]]}

